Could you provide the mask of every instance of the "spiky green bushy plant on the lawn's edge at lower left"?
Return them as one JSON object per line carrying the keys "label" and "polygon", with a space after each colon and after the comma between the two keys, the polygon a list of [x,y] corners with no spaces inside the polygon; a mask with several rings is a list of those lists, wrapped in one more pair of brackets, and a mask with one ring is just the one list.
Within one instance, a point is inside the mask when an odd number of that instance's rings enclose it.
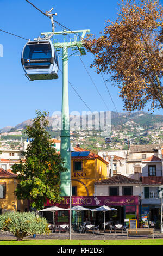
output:
{"label": "spiky green bushy plant on the lawn's edge at lower left", "polygon": [[46,218],[36,216],[34,212],[5,212],[0,215],[0,230],[10,231],[22,241],[29,235],[48,234],[48,222]]}

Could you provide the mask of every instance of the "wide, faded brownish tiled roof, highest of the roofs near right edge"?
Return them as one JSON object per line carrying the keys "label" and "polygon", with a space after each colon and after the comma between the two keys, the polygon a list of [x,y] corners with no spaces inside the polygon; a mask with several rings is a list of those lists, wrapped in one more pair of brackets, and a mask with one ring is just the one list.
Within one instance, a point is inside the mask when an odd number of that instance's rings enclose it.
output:
{"label": "wide, faded brownish tiled roof, highest of the roofs near right edge", "polygon": [[154,152],[160,148],[159,144],[130,145],[129,153]]}

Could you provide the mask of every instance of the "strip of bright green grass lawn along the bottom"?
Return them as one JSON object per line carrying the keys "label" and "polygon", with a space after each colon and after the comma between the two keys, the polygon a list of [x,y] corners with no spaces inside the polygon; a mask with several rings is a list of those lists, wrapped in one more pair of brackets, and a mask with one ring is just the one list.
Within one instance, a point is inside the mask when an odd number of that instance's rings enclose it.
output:
{"label": "strip of bright green grass lawn along the bottom", "polygon": [[163,239],[128,240],[0,240],[1,245],[163,245]]}

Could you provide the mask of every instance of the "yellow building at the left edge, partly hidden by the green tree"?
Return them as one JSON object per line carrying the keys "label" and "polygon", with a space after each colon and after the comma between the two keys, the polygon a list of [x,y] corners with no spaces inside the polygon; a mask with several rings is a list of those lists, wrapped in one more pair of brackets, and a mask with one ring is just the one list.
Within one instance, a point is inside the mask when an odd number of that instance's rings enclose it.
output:
{"label": "yellow building at the left edge, partly hidden by the green tree", "polygon": [[17,200],[14,194],[17,187],[17,175],[11,170],[0,168],[0,214],[5,211],[24,211],[28,208],[27,200]]}

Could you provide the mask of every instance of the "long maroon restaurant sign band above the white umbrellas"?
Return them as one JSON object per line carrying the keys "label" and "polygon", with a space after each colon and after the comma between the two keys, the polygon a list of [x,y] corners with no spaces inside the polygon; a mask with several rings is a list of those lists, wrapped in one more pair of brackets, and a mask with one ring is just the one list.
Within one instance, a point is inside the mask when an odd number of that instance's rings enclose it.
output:
{"label": "long maroon restaurant sign band above the white umbrellas", "polygon": [[[70,198],[64,197],[60,204],[52,204],[47,200],[47,206],[69,206]],[[138,205],[139,199],[138,196],[98,196],[98,197],[72,197],[72,206],[81,205],[81,206],[114,206],[114,205]]]}

